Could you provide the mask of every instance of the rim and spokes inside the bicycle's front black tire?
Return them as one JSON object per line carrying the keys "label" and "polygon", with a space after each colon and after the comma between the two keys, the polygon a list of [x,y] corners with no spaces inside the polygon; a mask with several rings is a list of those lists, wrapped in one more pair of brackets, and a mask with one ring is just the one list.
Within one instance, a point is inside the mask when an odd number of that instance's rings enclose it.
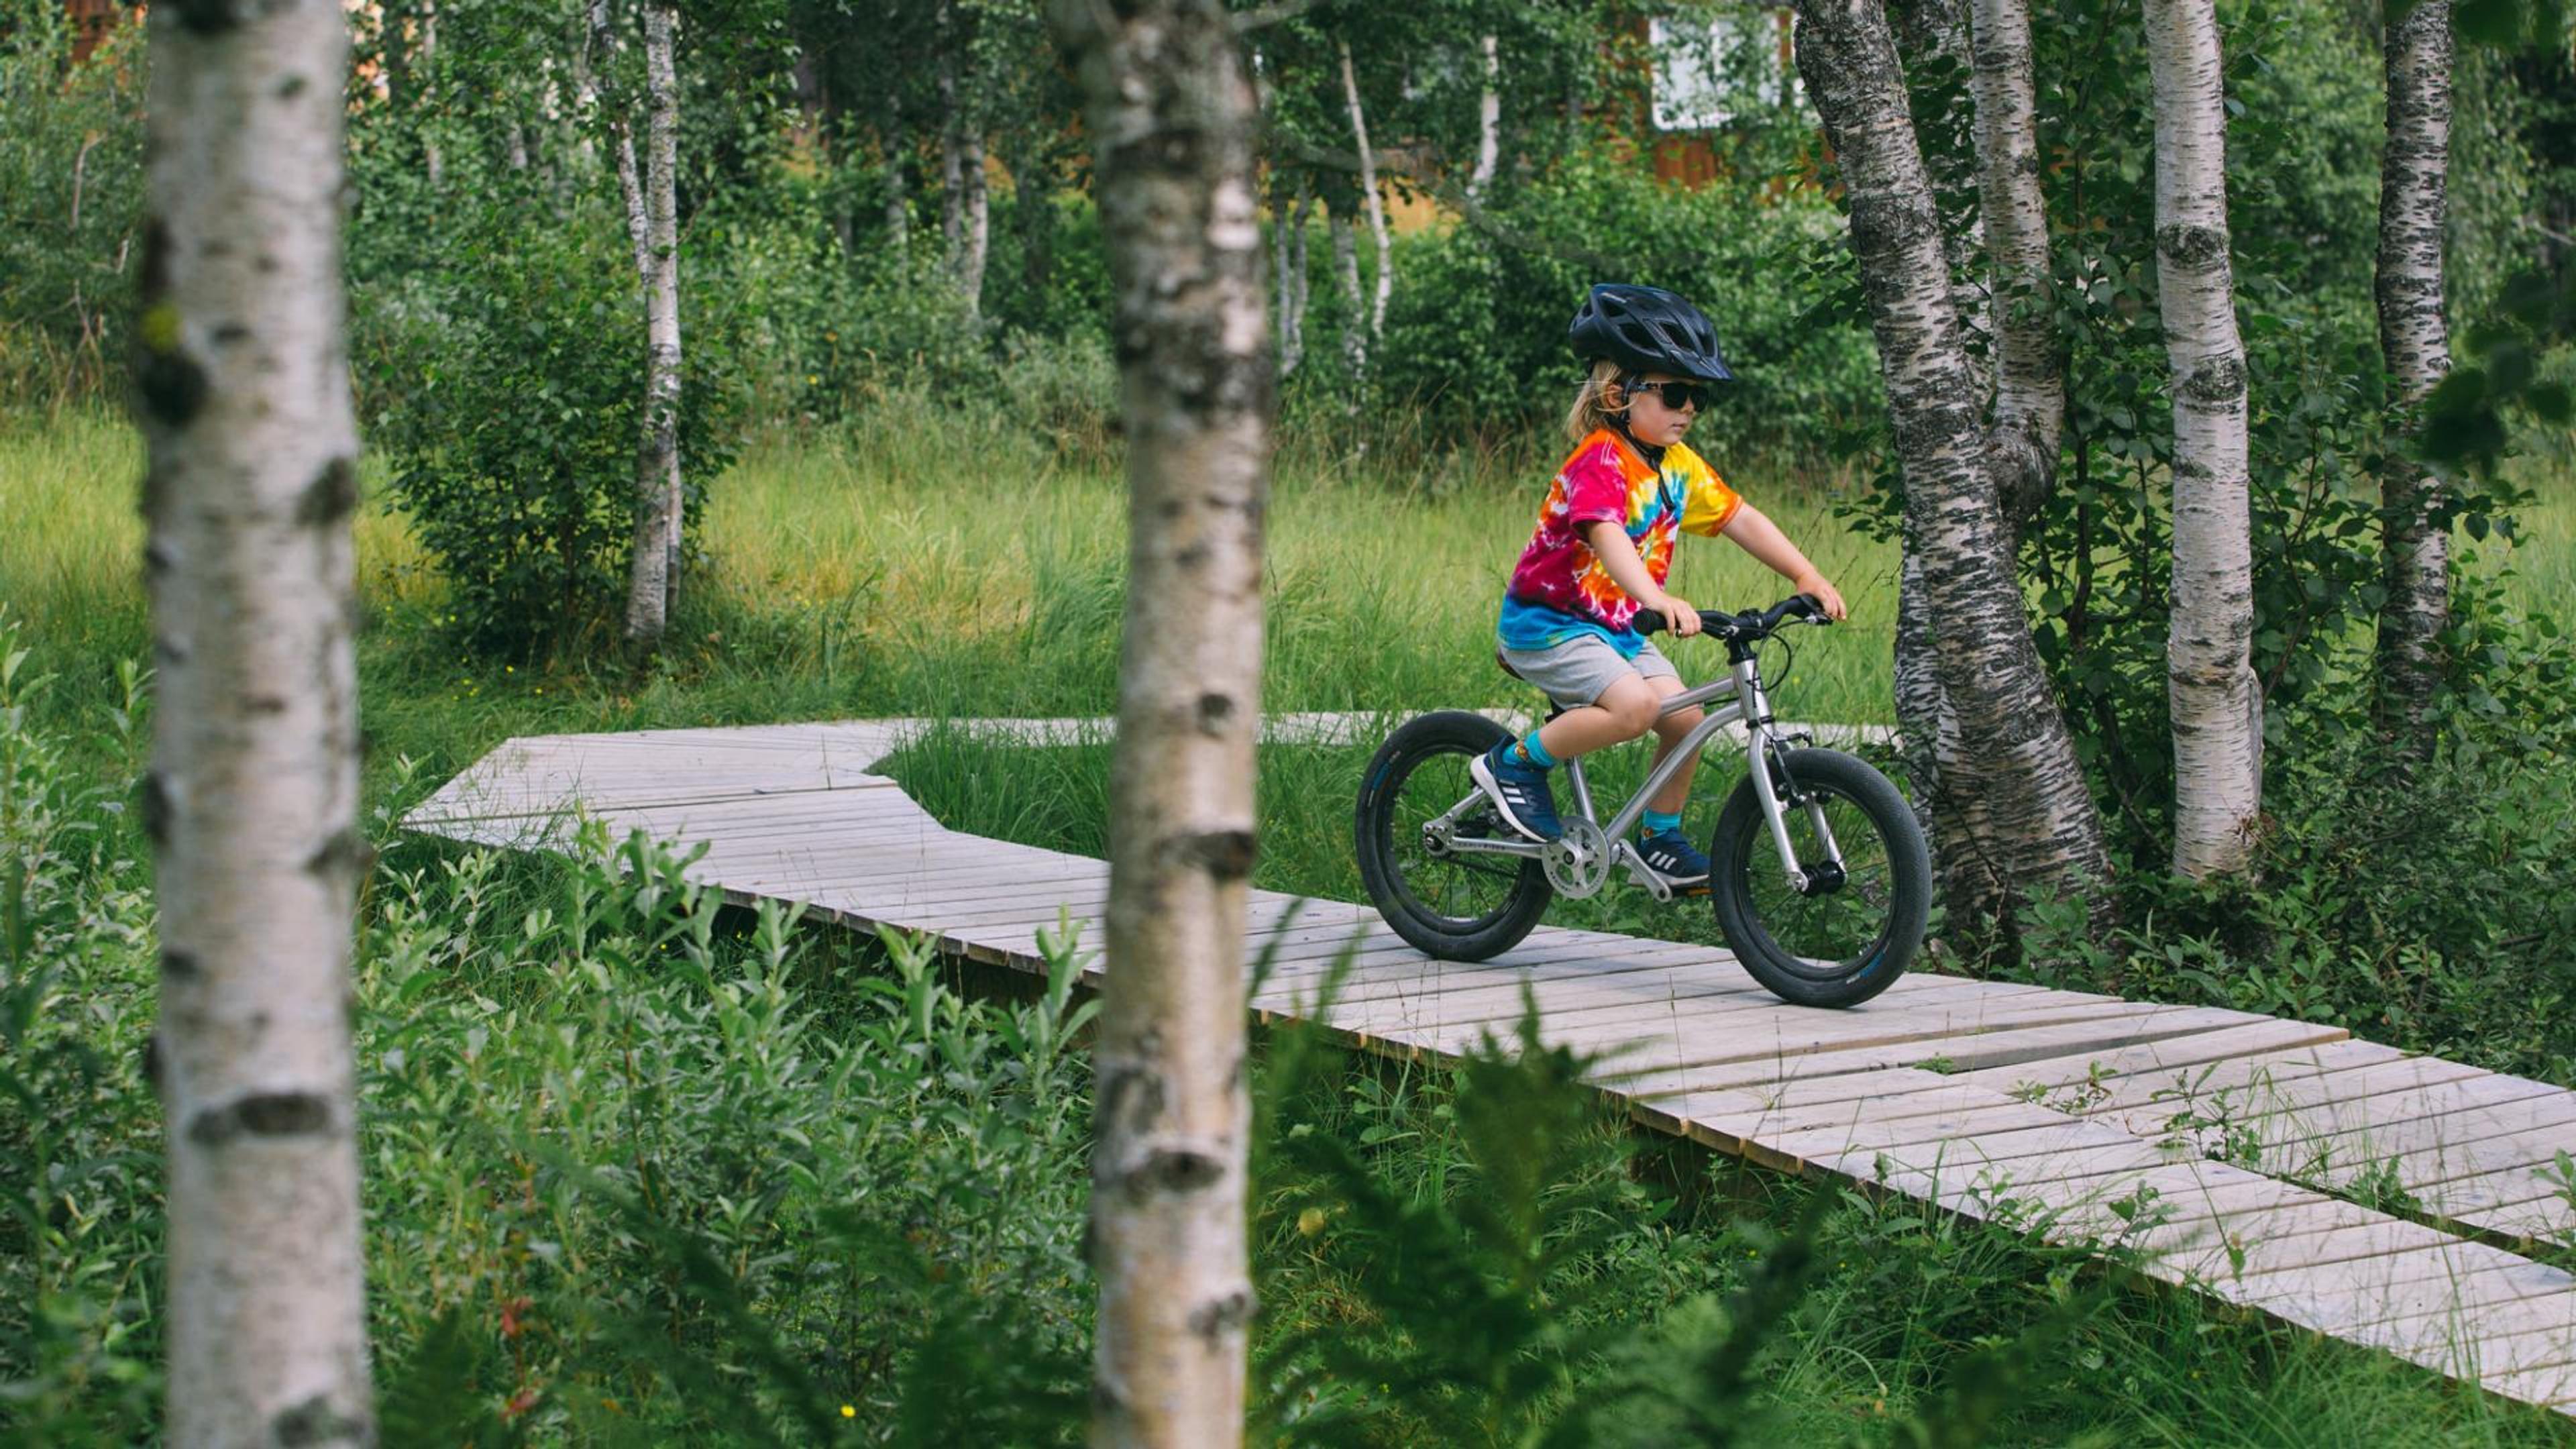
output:
{"label": "rim and spokes inside the bicycle's front black tire", "polygon": [[[1839,980],[1868,969],[1886,951],[1896,928],[1896,866],[1888,841],[1857,799],[1824,784],[1803,784],[1803,789],[1824,807],[1826,828],[1842,848],[1842,887],[1826,895],[1790,890],[1788,874],[1780,869],[1780,851],[1759,812],[1752,815],[1747,838],[1739,841],[1736,859],[1744,866],[1741,879],[1731,884],[1744,902],[1744,915],[1770,944],[1783,969],[1808,980]],[[1816,835],[1808,810],[1783,802],[1783,812],[1798,859],[1824,861],[1824,841]]]}

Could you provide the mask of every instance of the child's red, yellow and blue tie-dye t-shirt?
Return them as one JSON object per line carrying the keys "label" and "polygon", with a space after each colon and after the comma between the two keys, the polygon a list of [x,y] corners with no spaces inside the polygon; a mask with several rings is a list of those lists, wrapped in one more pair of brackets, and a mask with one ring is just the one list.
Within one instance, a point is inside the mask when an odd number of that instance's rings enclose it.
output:
{"label": "child's red, yellow and blue tie-dye t-shirt", "polygon": [[1662,585],[1672,572],[1674,534],[1718,534],[1741,505],[1716,469],[1682,443],[1664,449],[1656,467],[1618,433],[1592,433],[1556,469],[1548,503],[1538,511],[1538,531],[1512,570],[1497,629],[1502,647],[1548,650],[1597,634],[1620,655],[1636,657],[1646,642],[1628,627],[1638,603],[1584,544],[1582,523],[1607,518],[1628,529],[1646,575]]}

